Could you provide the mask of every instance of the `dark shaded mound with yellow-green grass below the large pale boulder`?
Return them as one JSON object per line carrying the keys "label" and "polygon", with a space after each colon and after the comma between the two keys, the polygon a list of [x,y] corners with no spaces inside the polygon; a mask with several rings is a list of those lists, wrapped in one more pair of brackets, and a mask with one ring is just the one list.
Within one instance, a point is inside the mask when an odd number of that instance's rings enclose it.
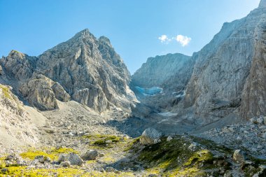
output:
{"label": "dark shaded mound with yellow-green grass below the large pale boulder", "polygon": [[175,136],[171,141],[164,137],[160,143],[140,148],[138,139],[135,139],[129,150],[139,154],[137,160],[146,165],[146,171],[150,174],[204,176],[207,169],[216,168],[211,151],[199,147],[190,150],[190,144],[188,139]]}

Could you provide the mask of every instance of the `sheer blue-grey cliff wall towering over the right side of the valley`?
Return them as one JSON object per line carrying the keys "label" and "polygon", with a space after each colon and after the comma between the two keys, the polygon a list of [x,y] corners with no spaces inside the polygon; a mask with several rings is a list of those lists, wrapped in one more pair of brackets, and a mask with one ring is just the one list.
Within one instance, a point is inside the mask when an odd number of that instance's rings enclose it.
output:
{"label": "sheer blue-grey cliff wall towering over the right side of the valley", "polygon": [[244,115],[265,113],[259,108],[265,85],[260,82],[259,87],[252,79],[257,77],[260,81],[264,74],[264,66],[258,66],[259,61],[263,64],[264,56],[262,41],[258,40],[258,35],[263,36],[265,31],[261,27],[266,19],[264,6],[263,0],[247,17],[225,23],[214,39],[193,55],[196,63],[186,89],[185,106],[193,106],[196,115],[214,121],[238,112],[240,105]]}

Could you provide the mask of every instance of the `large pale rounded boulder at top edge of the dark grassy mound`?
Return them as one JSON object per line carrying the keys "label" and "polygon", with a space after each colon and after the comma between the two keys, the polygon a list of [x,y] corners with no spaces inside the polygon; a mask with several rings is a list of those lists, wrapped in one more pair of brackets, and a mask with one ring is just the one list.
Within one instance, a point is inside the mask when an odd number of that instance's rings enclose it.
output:
{"label": "large pale rounded boulder at top edge of the dark grassy mound", "polygon": [[151,145],[154,143],[160,142],[160,137],[162,136],[161,132],[154,128],[145,129],[141,135],[140,142],[144,145]]}

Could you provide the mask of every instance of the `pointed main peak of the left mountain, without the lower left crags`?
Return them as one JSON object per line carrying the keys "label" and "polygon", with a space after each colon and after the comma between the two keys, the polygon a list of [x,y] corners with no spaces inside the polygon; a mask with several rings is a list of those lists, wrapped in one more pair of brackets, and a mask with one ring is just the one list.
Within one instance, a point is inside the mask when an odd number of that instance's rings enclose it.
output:
{"label": "pointed main peak of the left mountain, without the lower left crags", "polygon": [[[60,83],[72,99],[99,112],[130,108],[130,73],[108,38],[88,29],[39,56],[37,71]],[[126,97],[125,97],[126,96]]]}

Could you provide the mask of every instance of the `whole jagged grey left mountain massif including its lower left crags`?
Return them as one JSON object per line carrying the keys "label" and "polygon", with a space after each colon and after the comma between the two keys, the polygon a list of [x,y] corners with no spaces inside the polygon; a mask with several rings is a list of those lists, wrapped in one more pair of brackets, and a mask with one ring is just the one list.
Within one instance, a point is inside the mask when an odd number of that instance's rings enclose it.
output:
{"label": "whole jagged grey left mountain massif including its lower left crags", "polygon": [[73,99],[99,112],[110,106],[130,111],[135,99],[130,73],[109,39],[97,39],[88,29],[38,57],[13,50],[0,64],[6,80],[42,111],[57,108],[57,99]]}

